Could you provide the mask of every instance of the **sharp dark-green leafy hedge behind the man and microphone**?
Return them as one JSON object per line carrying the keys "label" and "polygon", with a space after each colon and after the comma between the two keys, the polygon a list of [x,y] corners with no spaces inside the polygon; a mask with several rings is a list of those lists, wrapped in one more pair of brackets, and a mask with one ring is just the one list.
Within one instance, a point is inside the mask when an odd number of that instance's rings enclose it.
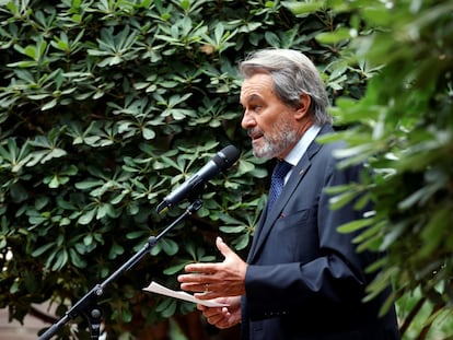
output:
{"label": "sharp dark-green leafy hedge behind the man and microphone", "polygon": [[373,72],[338,58],[347,42],[314,39],[350,15],[313,9],[298,17],[279,1],[2,1],[0,307],[22,320],[50,300],[65,313],[182,212],[186,202],[156,214],[166,194],[234,144],[237,164],[208,184],[198,213],[102,300],[112,338],[139,331],[131,320],[146,329],[193,310],[141,289],[177,286],[185,263],[212,260],[219,228],[241,254],[249,245],[267,168],[240,127],[239,60],[263,47],[303,50],[333,99],[359,98]]}

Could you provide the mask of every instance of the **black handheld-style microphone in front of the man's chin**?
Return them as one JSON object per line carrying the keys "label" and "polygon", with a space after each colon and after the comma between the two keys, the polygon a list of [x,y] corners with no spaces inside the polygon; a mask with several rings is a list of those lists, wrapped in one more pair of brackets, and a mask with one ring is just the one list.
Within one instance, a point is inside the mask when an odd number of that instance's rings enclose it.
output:
{"label": "black handheld-style microphone in front of the man's chin", "polygon": [[166,196],[158,206],[158,212],[161,213],[164,209],[173,208],[187,196],[198,195],[208,180],[232,166],[239,160],[239,156],[240,152],[235,146],[228,145],[223,148],[195,175]]}

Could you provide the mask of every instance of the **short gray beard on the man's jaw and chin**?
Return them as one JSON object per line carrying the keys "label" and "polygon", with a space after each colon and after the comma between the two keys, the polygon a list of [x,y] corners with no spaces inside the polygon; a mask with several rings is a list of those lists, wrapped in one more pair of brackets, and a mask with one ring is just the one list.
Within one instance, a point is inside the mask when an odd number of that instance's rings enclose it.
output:
{"label": "short gray beard on the man's jaw and chin", "polygon": [[277,129],[271,134],[263,134],[263,143],[253,145],[253,154],[260,159],[274,159],[294,145],[298,141],[298,133],[289,121],[281,121],[276,125]]}

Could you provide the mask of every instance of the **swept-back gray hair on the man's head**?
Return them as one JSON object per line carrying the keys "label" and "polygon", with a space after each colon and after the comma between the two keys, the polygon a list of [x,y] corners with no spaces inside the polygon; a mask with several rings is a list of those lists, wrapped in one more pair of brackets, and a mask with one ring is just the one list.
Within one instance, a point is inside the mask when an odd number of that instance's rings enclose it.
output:
{"label": "swept-back gray hair on the man's head", "polygon": [[301,94],[312,98],[310,112],[314,124],[332,124],[329,105],[323,80],[313,62],[293,49],[263,49],[253,52],[240,63],[242,75],[247,79],[256,73],[269,73],[274,90],[284,104],[298,108]]}

